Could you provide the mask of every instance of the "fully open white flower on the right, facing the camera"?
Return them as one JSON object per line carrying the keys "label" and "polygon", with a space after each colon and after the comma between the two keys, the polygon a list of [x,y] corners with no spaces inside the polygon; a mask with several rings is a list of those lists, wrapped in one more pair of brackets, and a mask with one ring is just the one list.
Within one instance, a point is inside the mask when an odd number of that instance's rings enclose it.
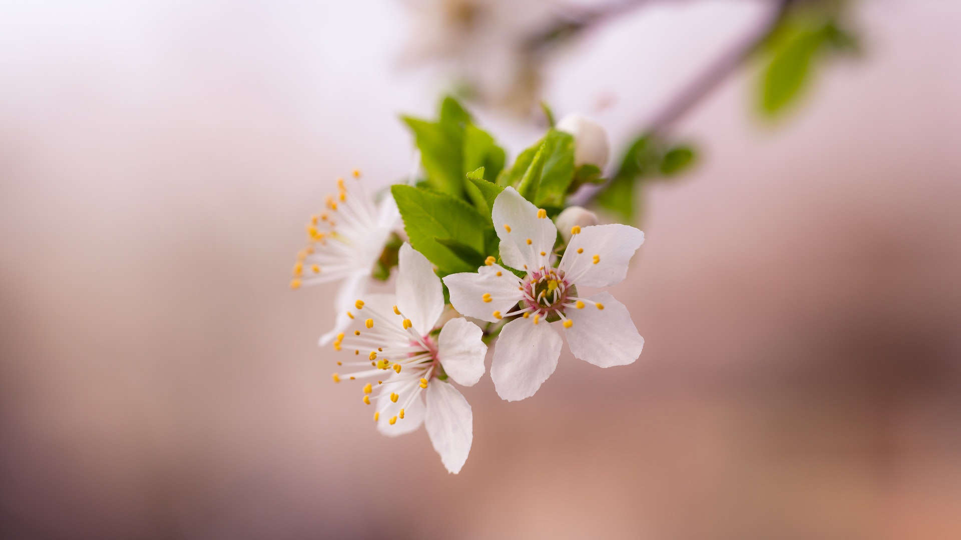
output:
{"label": "fully open white flower on the right, facing the camera", "polygon": [[444,278],[451,304],[464,315],[495,322],[522,315],[501,331],[490,377],[507,401],[534,395],[554,373],[561,337],[567,335],[574,356],[600,367],[626,365],[641,354],[644,338],[628,308],[607,292],[587,298],[578,286],[606,287],[624,280],[628,261],[644,243],[644,233],[627,225],[574,227],[571,241],[555,268],[554,224],[512,187],[494,201],[494,226],[501,238],[501,258],[524,269],[521,279],[488,258],[478,273]]}

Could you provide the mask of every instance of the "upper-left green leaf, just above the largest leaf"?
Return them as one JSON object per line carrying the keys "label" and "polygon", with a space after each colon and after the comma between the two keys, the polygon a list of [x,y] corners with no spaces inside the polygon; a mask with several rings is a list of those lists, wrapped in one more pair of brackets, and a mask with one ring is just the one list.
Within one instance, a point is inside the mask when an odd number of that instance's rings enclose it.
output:
{"label": "upper-left green leaf, just above the largest leaf", "polygon": [[453,122],[430,122],[404,116],[421,153],[428,184],[437,191],[459,197],[463,192],[463,130]]}

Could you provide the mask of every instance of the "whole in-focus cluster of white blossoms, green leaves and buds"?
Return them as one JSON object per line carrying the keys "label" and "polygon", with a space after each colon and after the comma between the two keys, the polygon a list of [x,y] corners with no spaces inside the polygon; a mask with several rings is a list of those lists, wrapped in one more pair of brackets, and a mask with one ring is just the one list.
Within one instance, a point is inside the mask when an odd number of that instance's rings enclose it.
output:
{"label": "whole in-focus cluster of white blossoms, green leaves and buds", "polygon": [[[333,381],[362,384],[378,430],[423,425],[447,470],[463,467],[473,411],[457,389],[490,377],[506,401],[530,398],[571,353],[626,365],[644,339],[609,293],[644,233],[565,207],[581,185],[603,182],[604,129],[569,116],[505,167],[505,153],[456,101],[436,122],[407,118],[426,178],[396,184],[380,202],[360,174],[311,216],[292,288],[336,282]],[[438,136],[443,135],[443,136]],[[406,236],[406,238],[403,238]],[[368,293],[396,264],[393,294]],[[564,336],[564,337],[562,337]]]}

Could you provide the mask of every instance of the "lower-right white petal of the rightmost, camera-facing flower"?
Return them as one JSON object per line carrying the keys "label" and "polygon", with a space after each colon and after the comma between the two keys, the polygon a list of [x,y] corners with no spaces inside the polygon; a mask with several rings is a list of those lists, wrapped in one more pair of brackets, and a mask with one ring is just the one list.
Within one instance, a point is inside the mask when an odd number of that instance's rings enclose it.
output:
{"label": "lower-right white petal of the rightmost, camera-facing flower", "polygon": [[[568,308],[565,312],[574,323],[564,331],[574,356],[600,367],[623,366],[641,356],[644,338],[630,320],[628,308],[607,292],[588,300],[585,307]],[[604,309],[595,306],[598,302]]]}

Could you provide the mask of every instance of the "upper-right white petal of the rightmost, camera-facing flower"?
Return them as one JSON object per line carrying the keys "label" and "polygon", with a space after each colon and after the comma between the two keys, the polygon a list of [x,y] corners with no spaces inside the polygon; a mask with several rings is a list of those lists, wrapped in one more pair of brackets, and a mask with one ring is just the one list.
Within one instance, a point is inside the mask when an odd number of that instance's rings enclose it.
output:
{"label": "upper-right white petal of the rightmost, camera-facing flower", "polygon": [[[630,258],[643,243],[644,233],[628,225],[584,227],[571,236],[559,268],[574,284],[607,287],[624,280]],[[583,251],[578,253],[578,249]]]}

